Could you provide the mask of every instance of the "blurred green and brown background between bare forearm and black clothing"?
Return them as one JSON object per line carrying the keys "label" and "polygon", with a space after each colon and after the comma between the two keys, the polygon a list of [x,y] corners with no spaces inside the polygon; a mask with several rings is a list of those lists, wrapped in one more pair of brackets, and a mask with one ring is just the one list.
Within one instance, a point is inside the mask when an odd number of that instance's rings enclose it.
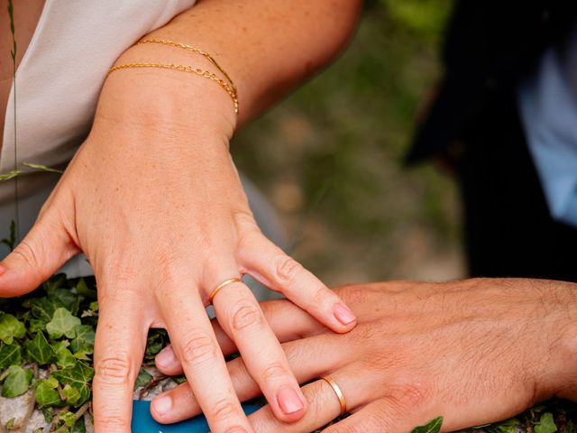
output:
{"label": "blurred green and brown background between bare forearm and black clothing", "polygon": [[234,139],[290,253],[329,285],[464,274],[453,181],[402,164],[452,5],[367,2],[342,58]]}

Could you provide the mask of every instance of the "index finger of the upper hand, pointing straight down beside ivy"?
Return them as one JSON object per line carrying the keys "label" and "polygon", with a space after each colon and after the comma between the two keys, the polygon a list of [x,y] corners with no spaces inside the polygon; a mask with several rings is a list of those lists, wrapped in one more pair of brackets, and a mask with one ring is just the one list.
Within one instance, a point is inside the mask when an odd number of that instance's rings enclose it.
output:
{"label": "index finger of the upper hand, pointing straight down beside ivy", "polygon": [[147,334],[142,312],[133,308],[138,296],[142,295],[137,290],[99,288],[93,381],[94,421],[99,433],[131,431],[133,385]]}

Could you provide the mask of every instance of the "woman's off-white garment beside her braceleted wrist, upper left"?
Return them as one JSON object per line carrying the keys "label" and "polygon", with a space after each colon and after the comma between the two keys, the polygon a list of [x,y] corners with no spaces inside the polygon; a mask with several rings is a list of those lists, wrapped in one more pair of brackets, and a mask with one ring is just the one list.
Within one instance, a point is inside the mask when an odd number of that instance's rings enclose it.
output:
{"label": "woman's off-white garment beside her braceleted wrist, upper left", "polygon": [[[87,136],[108,69],[134,42],[196,0],[46,0],[16,71],[18,161],[56,167]],[[2,60],[5,61],[5,60]],[[8,99],[0,172],[14,169],[14,84]],[[21,235],[58,181],[19,179]],[[14,219],[14,182],[0,182],[0,238]],[[0,250],[4,256],[7,250]],[[83,273],[67,270],[71,275]]]}

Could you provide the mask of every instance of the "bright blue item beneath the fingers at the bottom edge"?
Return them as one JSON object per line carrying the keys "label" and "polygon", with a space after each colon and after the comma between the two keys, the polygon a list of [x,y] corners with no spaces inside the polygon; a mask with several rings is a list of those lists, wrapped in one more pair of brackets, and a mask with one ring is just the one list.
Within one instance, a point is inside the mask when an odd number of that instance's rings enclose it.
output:
{"label": "bright blue item beneath the fingers at the bottom edge", "polygon": [[[261,409],[257,404],[243,404],[248,415]],[[210,431],[206,418],[202,415],[176,424],[159,424],[151,417],[150,401],[133,401],[133,424],[135,433],[206,433]]]}

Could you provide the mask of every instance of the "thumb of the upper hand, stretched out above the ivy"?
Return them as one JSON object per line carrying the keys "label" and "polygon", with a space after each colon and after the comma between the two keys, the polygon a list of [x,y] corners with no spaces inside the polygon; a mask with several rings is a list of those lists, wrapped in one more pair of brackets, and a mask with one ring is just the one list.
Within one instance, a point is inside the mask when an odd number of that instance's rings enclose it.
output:
{"label": "thumb of the upper hand, stretched out above the ivy", "polygon": [[79,253],[61,221],[53,215],[56,214],[42,215],[0,263],[0,296],[20,296],[36,289]]}

